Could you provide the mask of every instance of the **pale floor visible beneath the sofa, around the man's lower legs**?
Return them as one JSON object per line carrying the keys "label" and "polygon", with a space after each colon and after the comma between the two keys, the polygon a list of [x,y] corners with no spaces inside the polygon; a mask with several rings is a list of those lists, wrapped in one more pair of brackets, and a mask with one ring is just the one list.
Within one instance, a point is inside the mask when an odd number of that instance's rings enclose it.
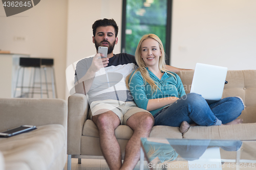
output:
{"label": "pale floor visible beneath the sofa, around the man's lower legs", "polygon": [[[78,163],[78,159],[71,159],[71,170],[109,170],[109,166],[104,159],[82,159],[82,163]],[[139,170],[140,164],[136,165],[134,170]],[[67,170],[67,163],[64,170]],[[144,170],[148,170],[146,162],[144,162]]]}

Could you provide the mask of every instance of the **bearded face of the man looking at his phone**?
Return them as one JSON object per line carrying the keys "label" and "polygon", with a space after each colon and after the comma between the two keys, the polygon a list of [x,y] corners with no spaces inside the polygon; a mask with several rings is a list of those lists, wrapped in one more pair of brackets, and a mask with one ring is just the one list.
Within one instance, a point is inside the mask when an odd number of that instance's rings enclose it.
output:
{"label": "bearded face of the man looking at his phone", "polygon": [[115,29],[112,26],[98,27],[96,29],[95,37],[93,37],[96,50],[99,46],[107,46],[108,54],[112,53],[115,44],[117,44],[117,37],[115,37]]}

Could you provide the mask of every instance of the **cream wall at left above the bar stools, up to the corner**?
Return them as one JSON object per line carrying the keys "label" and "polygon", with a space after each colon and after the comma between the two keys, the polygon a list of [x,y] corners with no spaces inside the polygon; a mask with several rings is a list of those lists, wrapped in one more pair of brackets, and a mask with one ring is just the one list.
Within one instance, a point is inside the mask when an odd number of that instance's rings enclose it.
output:
{"label": "cream wall at left above the bar stools, up to the corner", "polygon": [[[65,99],[66,90],[67,6],[67,0],[44,0],[25,12],[6,17],[0,5],[0,49],[54,58],[60,99]],[[15,41],[14,37],[25,37],[25,40]]]}

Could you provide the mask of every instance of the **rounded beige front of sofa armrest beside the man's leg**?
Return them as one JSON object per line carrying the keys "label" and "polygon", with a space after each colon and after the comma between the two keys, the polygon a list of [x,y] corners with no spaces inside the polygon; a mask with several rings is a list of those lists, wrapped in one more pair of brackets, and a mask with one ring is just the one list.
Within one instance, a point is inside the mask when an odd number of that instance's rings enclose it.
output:
{"label": "rounded beige front of sofa armrest beside the man's leg", "polygon": [[68,99],[68,155],[80,155],[83,124],[89,111],[87,96],[72,94]]}

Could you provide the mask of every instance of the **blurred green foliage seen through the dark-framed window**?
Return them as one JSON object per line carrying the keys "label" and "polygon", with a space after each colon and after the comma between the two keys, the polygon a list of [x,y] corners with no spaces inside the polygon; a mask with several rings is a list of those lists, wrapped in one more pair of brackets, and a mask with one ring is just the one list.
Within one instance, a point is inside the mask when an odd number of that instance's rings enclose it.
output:
{"label": "blurred green foliage seen through the dark-framed window", "polygon": [[145,34],[156,34],[165,48],[167,0],[127,0],[126,3],[125,53],[134,55]]}

